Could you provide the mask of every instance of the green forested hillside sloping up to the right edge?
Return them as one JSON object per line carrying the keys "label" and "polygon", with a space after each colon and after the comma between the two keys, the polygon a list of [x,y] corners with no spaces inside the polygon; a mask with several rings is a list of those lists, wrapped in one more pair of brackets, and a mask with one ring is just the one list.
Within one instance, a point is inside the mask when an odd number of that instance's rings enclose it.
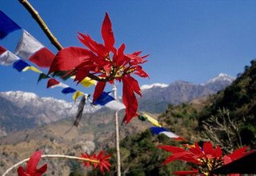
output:
{"label": "green forested hillside sloping up to the right edge", "polygon": [[[218,94],[178,106],[169,105],[158,117],[163,127],[186,138],[187,143],[211,141],[230,152],[241,146],[255,148],[256,62],[246,66],[233,84]],[[181,146],[164,134],[150,130],[122,140],[122,172],[126,175],[170,175],[184,163],[160,166],[167,155],[158,145]],[[112,151],[114,153],[114,151]],[[114,169],[114,168],[113,168]]]}

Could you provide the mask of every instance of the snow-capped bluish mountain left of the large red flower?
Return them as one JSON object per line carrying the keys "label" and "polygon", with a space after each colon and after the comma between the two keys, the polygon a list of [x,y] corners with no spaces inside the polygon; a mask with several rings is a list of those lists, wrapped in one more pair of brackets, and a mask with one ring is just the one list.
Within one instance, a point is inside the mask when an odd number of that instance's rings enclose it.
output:
{"label": "snow-capped bluish mountain left of the large red flower", "polygon": [[[0,105],[0,128],[7,132],[19,130],[22,126],[31,128],[74,117],[78,110],[78,102],[40,98],[37,94],[22,91],[0,92]],[[93,113],[95,110],[98,108],[86,106],[84,113]],[[17,121],[22,126],[18,126]]]}

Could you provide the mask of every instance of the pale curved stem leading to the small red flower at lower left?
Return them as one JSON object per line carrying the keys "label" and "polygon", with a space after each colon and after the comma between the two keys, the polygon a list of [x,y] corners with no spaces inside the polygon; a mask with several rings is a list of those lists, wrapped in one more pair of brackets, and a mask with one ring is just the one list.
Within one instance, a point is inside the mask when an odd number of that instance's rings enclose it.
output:
{"label": "pale curved stem leading to the small red flower at lower left", "polygon": [[[75,160],[80,160],[83,162],[94,162],[94,163],[99,163],[98,160],[94,159],[88,159],[88,158],[80,158],[80,157],[75,157],[75,156],[70,156],[70,155],[65,155],[65,154],[42,154],[41,158],[67,158],[67,159],[75,159]],[[24,162],[29,161],[30,158],[23,159],[21,162],[17,162],[14,164],[14,166],[11,166],[2,176],[6,176],[10,172],[10,170],[13,170],[15,167],[21,165]]]}

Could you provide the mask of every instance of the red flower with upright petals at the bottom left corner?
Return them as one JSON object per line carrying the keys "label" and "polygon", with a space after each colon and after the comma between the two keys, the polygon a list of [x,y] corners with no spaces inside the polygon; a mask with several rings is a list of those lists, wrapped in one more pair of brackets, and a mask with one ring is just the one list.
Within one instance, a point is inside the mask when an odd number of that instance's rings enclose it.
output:
{"label": "red flower with upright petals at the bottom left corner", "polygon": [[30,157],[30,160],[27,162],[26,170],[22,166],[18,167],[18,176],[41,176],[47,170],[47,164],[37,169],[38,162],[42,156],[42,151],[36,151]]}

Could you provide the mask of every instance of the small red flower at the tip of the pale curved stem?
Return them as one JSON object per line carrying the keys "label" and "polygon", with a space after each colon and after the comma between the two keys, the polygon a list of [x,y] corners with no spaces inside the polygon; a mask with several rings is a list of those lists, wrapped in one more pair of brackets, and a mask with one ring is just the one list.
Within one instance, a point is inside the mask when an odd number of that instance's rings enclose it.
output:
{"label": "small red flower at the tip of the pale curved stem", "polygon": [[[105,170],[110,171],[110,157],[111,154],[104,154],[104,151],[100,151],[97,154],[81,154],[81,158],[87,158],[90,160],[96,160],[98,162],[93,162],[94,169],[99,168],[101,173],[104,173]],[[89,167],[92,162],[83,162],[84,166]]]}

